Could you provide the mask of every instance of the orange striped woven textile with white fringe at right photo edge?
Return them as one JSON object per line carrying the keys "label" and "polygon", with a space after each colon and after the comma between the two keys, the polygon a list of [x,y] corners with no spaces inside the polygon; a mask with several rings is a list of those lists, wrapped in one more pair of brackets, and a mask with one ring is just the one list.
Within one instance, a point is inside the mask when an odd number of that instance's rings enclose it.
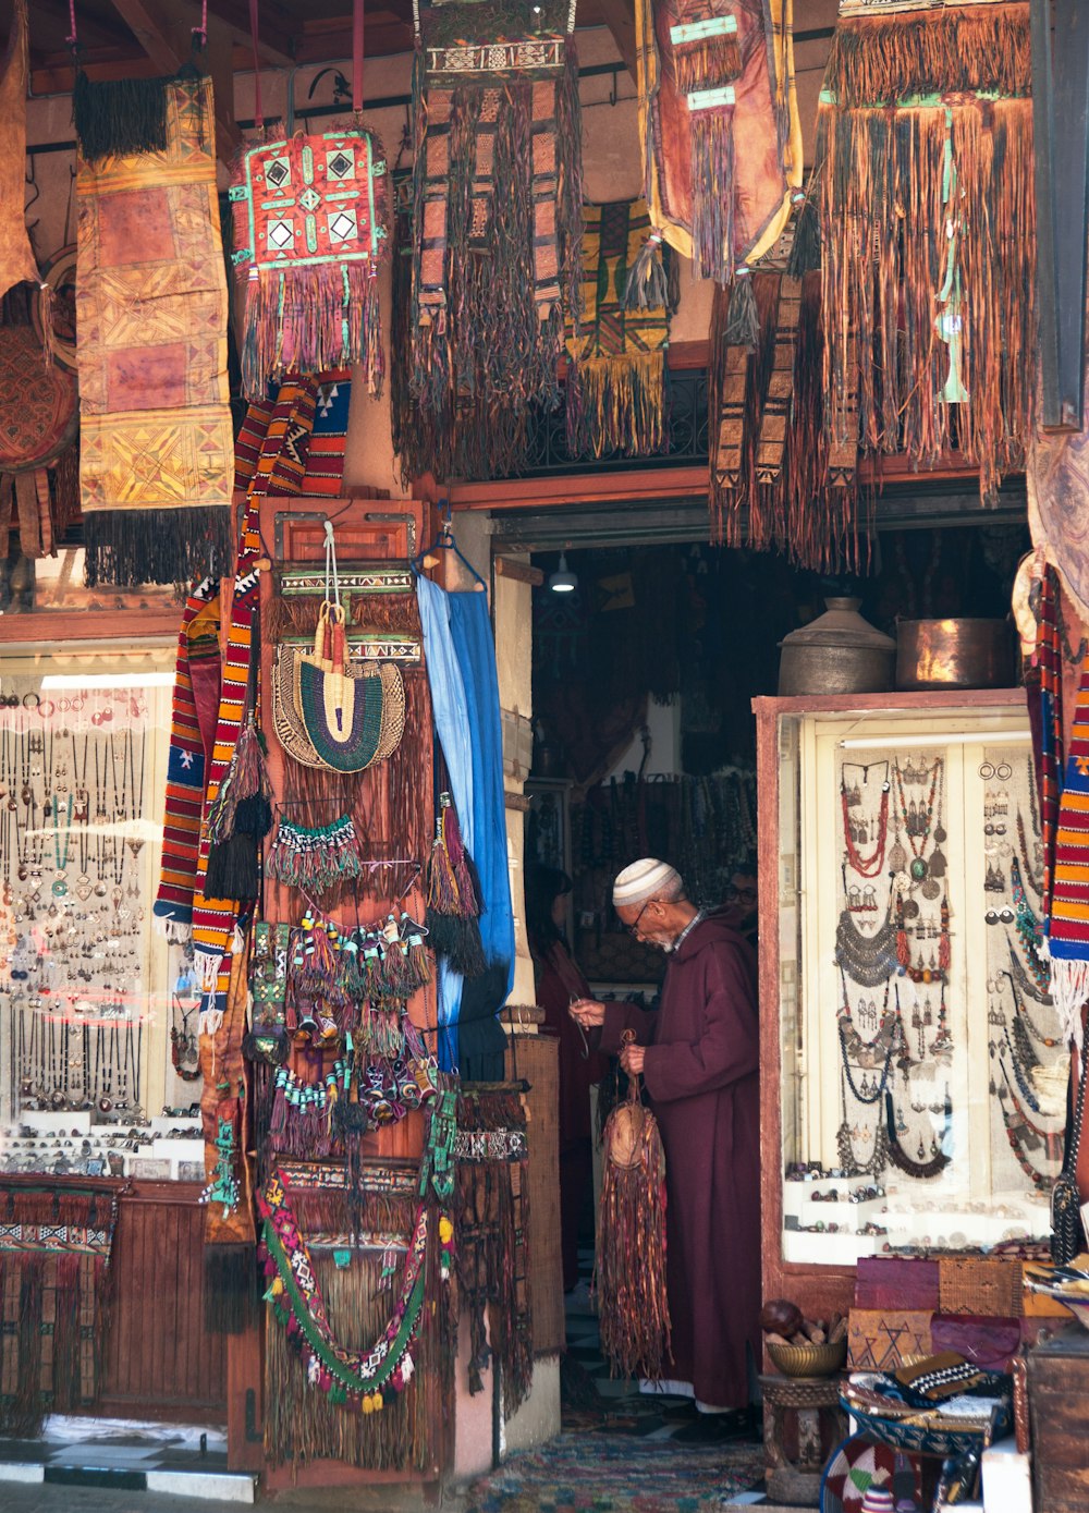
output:
{"label": "orange striped woven textile with white fringe at right photo edge", "polygon": [[1089,652],[1081,663],[1059,825],[1048,921],[1051,997],[1063,1039],[1081,1050],[1081,1005],[1089,999]]}

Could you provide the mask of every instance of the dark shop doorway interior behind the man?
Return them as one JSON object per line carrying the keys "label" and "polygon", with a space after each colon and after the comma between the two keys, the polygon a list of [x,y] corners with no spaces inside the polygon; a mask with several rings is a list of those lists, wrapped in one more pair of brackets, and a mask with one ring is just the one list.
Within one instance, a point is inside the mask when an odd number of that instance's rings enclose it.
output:
{"label": "dark shop doorway interior behind the man", "polygon": [[[591,534],[588,531],[587,534]],[[561,1038],[560,1145],[569,1354],[564,1412],[600,1409],[608,1368],[591,1298],[599,1133],[625,1089],[616,1061],[584,1058],[570,996],[653,1006],[666,958],[611,906],[640,856],[675,865],[700,906],[734,911],[758,944],[752,701],[774,694],[779,643],[853,596],[895,635],[898,619],[1004,620],[1028,549],[1022,525],[897,528],[874,536],[868,576],[823,576],[783,557],[706,542],[578,543],[532,557],[534,758],[526,784],[526,923],[537,1003]],[[1015,679],[1013,640],[1006,685]],[[820,690],[814,690],[820,691]],[[561,937],[557,946],[557,937]],[[585,988],[582,986],[585,983]],[[613,1412],[685,1424],[684,1400],[605,1386]],[[653,1430],[650,1430],[653,1431]]]}

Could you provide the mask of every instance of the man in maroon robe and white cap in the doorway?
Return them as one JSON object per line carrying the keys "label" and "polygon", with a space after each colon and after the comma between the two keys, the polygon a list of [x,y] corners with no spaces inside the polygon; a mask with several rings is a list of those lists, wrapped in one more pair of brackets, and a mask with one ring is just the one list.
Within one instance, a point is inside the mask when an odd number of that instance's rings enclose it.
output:
{"label": "man in maroon robe and white cap in the doorway", "polygon": [[[679,875],[653,858],[620,873],[613,902],[638,940],[669,953],[661,1006],[582,999],[570,1012],[643,1077],[661,1129],[672,1384],[685,1384],[705,1413],[746,1409],[761,1303],[755,956],[734,927],[737,911],[697,911]],[[635,1044],[622,1045],[626,1029]],[[702,1421],[708,1436],[715,1428]]]}

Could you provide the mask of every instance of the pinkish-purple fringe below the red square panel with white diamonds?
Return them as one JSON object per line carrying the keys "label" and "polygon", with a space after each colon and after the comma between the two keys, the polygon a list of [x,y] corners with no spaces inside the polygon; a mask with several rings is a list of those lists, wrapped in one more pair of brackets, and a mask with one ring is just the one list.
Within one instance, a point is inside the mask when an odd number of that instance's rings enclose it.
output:
{"label": "pinkish-purple fringe below the red square panel with white diamonds", "polygon": [[321,263],[247,277],[242,318],[242,390],[260,399],[289,372],[360,365],[381,393],[384,359],[378,278],[369,265]]}

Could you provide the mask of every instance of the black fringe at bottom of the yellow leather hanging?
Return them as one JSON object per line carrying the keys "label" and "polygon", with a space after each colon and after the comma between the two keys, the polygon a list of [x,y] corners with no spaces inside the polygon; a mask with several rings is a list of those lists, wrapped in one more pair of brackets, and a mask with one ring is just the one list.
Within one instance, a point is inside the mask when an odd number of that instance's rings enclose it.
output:
{"label": "black fringe at bottom of the yellow leather hanging", "polygon": [[86,584],[136,589],[145,583],[197,583],[207,572],[209,552],[219,564],[233,563],[233,537],[227,505],[88,510],[83,514]]}

